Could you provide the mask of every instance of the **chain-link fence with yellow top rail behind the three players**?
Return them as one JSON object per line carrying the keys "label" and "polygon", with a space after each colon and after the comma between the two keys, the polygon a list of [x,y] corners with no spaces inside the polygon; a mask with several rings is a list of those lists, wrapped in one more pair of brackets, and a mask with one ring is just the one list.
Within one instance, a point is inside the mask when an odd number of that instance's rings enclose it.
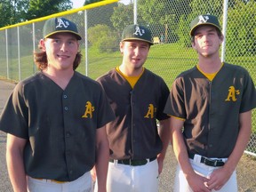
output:
{"label": "chain-link fence with yellow top rail behind the three players", "polygon": [[[124,5],[106,0],[52,16],[76,22],[84,38],[80,49],[83,62],[77,70],[95,79],[118,66],[122,57],[119,41],[124,26],[137,22],[148,26],[154,36],[145,67],[171,84],[176,76],[196,65],[196,52],[188,36],[189,23],[199,14],[219,17],[225,42],[221,58],[247,68],[256,82],[256,3],[219,0],[134,0]],[[101,6],[103,5],[103,6]],[[135,11],[135,12],[134,12]],[[50,16],[50,17],[52,17]],[[20,81],[36,72],[32,52],[42,38],[44,20],[31,20],[0,28],[0,76]],[[252,138],[246,153],[256,154],[256,114],[252,111]]]}

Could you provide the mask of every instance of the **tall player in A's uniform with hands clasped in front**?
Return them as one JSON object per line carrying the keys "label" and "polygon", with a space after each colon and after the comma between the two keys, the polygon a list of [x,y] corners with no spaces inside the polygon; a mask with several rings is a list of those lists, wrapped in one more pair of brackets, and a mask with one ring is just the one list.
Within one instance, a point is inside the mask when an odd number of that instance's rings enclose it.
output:
{"label": "tall player in A's uniform with hands clasped in front", "polygon": [[255,86],[244,68],[221,62],[217,17],[200,15],[190,25],[198,64],[176,78],[164,109],[172,116],[179,162],[174,191],[236,192],[236,165],[252,132]]}

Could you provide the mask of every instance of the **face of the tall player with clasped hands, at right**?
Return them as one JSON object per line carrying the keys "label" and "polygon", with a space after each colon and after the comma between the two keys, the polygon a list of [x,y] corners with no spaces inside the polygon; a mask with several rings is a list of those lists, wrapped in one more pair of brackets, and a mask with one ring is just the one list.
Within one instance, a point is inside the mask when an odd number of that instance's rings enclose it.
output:
{"label": "face of the tall player with clasped hands, at right", "polygon": [[202,26],[196,28],[193,48],[203,57],[218,55],[223,36],[218,36],[217,29],[213,26]]}

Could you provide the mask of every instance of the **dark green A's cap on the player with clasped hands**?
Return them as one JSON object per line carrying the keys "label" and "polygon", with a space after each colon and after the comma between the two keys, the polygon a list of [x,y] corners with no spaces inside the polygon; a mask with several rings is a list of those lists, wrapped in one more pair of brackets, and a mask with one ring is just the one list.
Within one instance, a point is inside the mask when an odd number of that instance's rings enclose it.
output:
{"label": "dark green A's cap on the player with clasped hands", "polygon": [[218,18],[211,14],[204,14],[197,16],[194,20],[190,23],[190,36],[194,36],[196,28],[202,25],[211,25],[217,28],[220,32],[220,22]]}

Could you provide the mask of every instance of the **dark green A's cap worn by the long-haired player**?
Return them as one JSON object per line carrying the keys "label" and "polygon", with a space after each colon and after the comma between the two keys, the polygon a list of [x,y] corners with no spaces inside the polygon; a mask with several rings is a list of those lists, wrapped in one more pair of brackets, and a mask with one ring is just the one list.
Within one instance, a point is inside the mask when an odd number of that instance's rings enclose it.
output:
{"label": "dark green A's cap worn by the long-haired player", "polygon": [[76,36],[77,40],[81,40],[82,37],[78,34],[76,24],[66,18],[52,18],[46,20],[44,23],[44,38],[52,36],[57,33],[71,33]]}

